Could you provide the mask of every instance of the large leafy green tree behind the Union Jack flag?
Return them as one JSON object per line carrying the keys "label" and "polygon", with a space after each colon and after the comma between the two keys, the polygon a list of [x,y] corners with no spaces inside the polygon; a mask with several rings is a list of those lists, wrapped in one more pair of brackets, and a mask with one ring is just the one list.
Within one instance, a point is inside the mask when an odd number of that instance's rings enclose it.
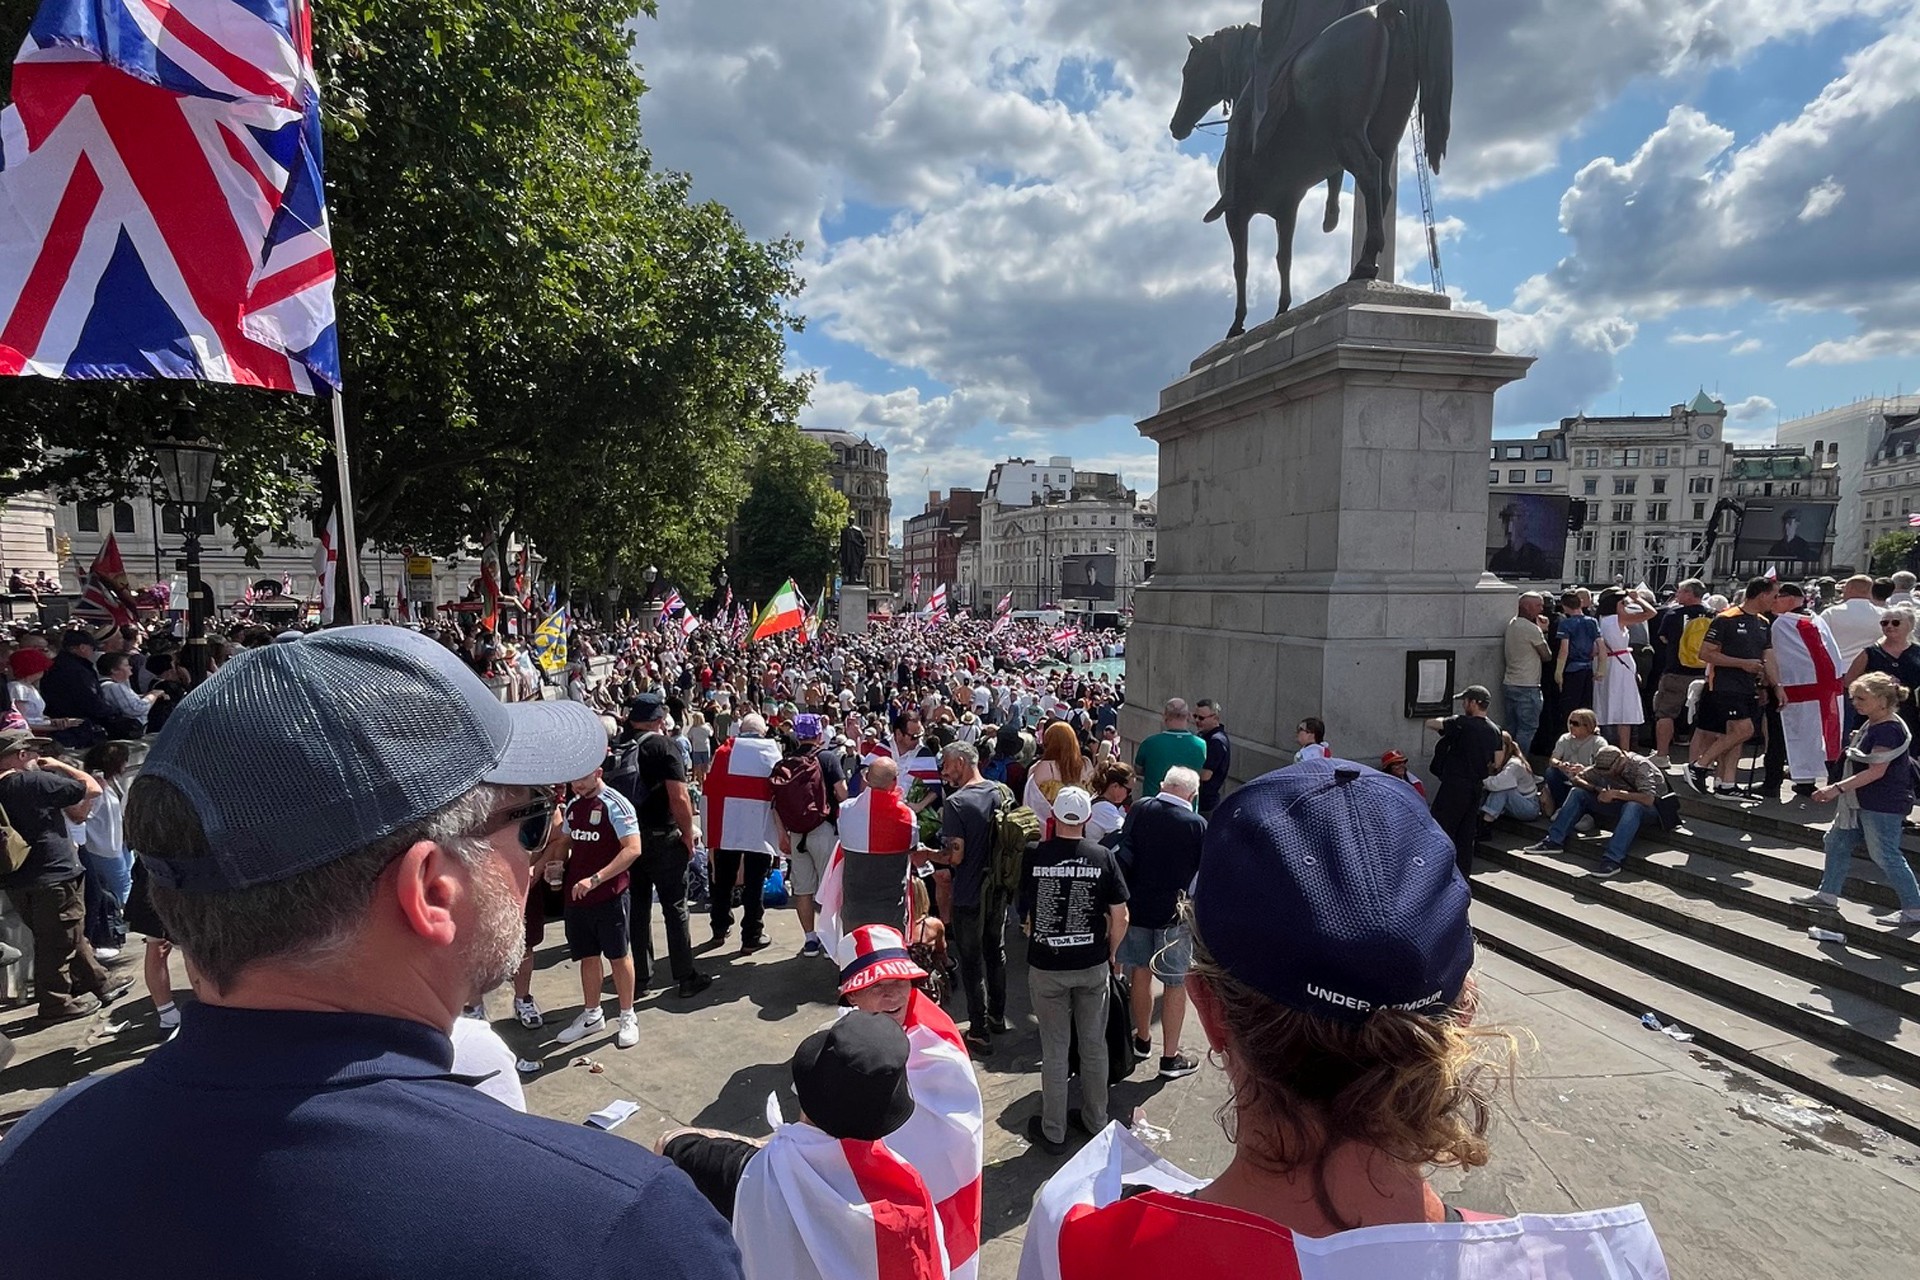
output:
{"label": "large leafy green tree behind the Union Jack flag", "polygon": [[[31,17],[0,0],[0,40]],[[716,564],[785,374],[793,242],[693,203],[639,142],[651,0],[317,0],[348,438],[363,543],[530,535],[589,591]],[[6,44],[6,48],[13,48]],[[0,380],[10,382],[10,380]],[[324,405],[190,384],[0,386],[0,493],[140,489],[140,439],[225,451],[242,532],[284,528]],[[61,453],[69,451],[69,453]]]}

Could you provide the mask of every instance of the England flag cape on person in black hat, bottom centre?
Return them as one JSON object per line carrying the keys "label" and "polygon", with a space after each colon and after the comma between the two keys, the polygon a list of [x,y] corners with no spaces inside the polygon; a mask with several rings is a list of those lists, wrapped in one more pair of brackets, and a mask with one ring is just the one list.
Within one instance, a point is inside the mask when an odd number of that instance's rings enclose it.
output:
{"label": "England flag cape on person in black hat, bottom centre", "polygon": [[914,1167],[885,1142],[781,1125],[733,1196],[745,1280],[943,1280],[941,1222]]}

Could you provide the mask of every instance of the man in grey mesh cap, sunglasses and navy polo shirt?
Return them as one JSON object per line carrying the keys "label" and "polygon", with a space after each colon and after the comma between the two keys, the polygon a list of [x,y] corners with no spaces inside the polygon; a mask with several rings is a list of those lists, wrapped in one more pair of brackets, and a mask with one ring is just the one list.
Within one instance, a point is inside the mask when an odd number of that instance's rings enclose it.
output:
{"label": "man in grey mesh cap, sunglasses and navy polo shirt", "polygon": [[[497,702],[401,628],[253,649],[167,722],[127,839],[200,1004],[0,1144],[10,1259],[115,1272],[737,1280],[678,1169],[455,1075],[447,1029],[513,975],[553,787],[601,766],[576,702]],[[98,1151],[142,1194],[77,1199]],[[167,1240],[156,1251],[152,1242]]]}

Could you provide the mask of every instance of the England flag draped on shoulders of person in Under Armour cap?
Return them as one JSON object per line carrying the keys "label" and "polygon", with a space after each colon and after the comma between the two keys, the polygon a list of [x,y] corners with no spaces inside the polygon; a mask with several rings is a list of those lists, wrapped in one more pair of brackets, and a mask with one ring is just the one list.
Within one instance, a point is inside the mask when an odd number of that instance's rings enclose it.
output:
{"label": "England flag draped on shoulders of person in Under Armour cap", "polygon": [[1020,1280],[1667,1280],[1640,1205],[1311,1238],[1190,1199],[1200,1186],[1110,1125],[1033,1197]]}

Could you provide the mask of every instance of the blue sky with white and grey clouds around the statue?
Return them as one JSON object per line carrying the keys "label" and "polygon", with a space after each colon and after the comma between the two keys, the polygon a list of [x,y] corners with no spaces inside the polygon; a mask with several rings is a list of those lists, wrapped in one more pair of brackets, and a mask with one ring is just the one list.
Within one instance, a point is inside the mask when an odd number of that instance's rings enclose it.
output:
{"label": "blue sky with white and grey clouds around the statue", "polygon": [[[1167,134],[1185,33],[1258,0],[659,2],[647,142],[804,242],[806,424],[891,451],[895,522],[1006,457],[1156,487],[1133,422],[1233,313],[1200,223],[1219,140]],[[1538,357],[1503,428],[1705,386],[1770,439],[1920,388],[1920,6],[1455,0],[1455,27],[1446,284]],[[1302,217],[1296,297],[1344,274],[1346,226]],[[1400,232],[1427,286],[1411,180]],[[1271,228],[1254,246],[1258,322]]]}

